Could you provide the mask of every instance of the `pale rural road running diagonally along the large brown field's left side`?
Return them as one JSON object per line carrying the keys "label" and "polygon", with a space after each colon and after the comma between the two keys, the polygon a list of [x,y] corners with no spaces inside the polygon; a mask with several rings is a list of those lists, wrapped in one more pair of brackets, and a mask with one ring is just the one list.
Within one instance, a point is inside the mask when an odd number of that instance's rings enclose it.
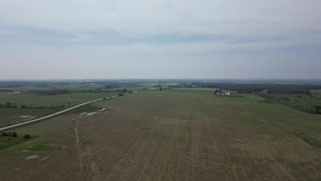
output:
{"label": "pale rural road running diagonally along the large brown field's left side", "polygon": [[[136,92],[138,92],[138,90],[132,91],[132,93],[136,93]],[[128,95],[128,93],[124,93],[123,95]],[[14,124],[14,125],[5,126],[5,127],[3,127],[3,128],[0,128],[0,131],[2,131],[2,130],[8,130],[8,129],[11,129],[11,128],[16,128],[16,127],[21,126],[21,125],[33,123],[33,122],[40,121],[40,120],[43,120],[43,119],[47,119],[47,118],[49,118],[49,117],[53,117],[53,116],[56,116],[56,115],[58,115],[58,114],[62,114],[62,113],[67,112],[67,111],[69,111],[69,110],[73,110],[73,109],[75,109],[75,108],[79,108],[80,106],[84,106],[84,105],[86,105],[86,104],[91,104],[91,103],[97,102],[97,101],[112,99],[112,98],[115,98],[115,97],[118,97],[118,95],[114,95],[114,96],[112,96],[112,97],[106,97],[105,99],[104,99],[104,98],[99,98],[99,99],[95,99],[95,100],[93,100],[93,101],[87,101],[87,102],[85,102],[85,103],[78,104],[77,106],[73,106],[73,107],[71,107],[71,108],[68,108],[68,109],[65,109],[65,110],[61,110],[61,111],[55,112],[55,113],[53,113],[53,114],[49,114],[49,115],[47,115],[47,116],[45,116],[45,117],[40,117],[40,118],[38,118],[38,119],[33,119],[33,120],[30,120],[30,121],[25,121],[25,122],[23,122],[23,123],[17,123],[17,124]]]}

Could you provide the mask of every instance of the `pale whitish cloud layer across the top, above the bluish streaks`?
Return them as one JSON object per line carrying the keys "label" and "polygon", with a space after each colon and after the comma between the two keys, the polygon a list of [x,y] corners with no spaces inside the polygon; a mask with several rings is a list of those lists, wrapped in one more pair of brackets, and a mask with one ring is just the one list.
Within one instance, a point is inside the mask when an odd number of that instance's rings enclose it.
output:
{"label": "pale whitish cloud layer across the top, above the bluish streaks", "polygon": [[[320,30],[321,1],[40,1],[0,2],[0,22],[123,34],[265,35]],[[291,30],[291,31],[290,31]]]}

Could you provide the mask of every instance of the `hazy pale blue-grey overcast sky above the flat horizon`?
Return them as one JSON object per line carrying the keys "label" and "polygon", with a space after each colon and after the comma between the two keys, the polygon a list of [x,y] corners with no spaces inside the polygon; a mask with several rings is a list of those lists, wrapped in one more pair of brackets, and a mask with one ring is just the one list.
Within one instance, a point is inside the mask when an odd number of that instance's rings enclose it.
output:
{"label": "hazy pale blue-grey overcast sky above the flat horizon", "polygon": [[1,0],[0,80],[320,79],[320,0]]}

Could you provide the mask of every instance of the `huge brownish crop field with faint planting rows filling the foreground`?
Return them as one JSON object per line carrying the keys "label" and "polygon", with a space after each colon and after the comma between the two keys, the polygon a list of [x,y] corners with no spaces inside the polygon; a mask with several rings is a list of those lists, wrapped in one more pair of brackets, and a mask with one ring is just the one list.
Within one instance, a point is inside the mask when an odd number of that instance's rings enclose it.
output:
{"label": "huge brownish crop field with faint planting rows filling the foreground", "polygon": [[149,90],[10,132],[0,180],[321,180],[321,115],[256,95]]}

